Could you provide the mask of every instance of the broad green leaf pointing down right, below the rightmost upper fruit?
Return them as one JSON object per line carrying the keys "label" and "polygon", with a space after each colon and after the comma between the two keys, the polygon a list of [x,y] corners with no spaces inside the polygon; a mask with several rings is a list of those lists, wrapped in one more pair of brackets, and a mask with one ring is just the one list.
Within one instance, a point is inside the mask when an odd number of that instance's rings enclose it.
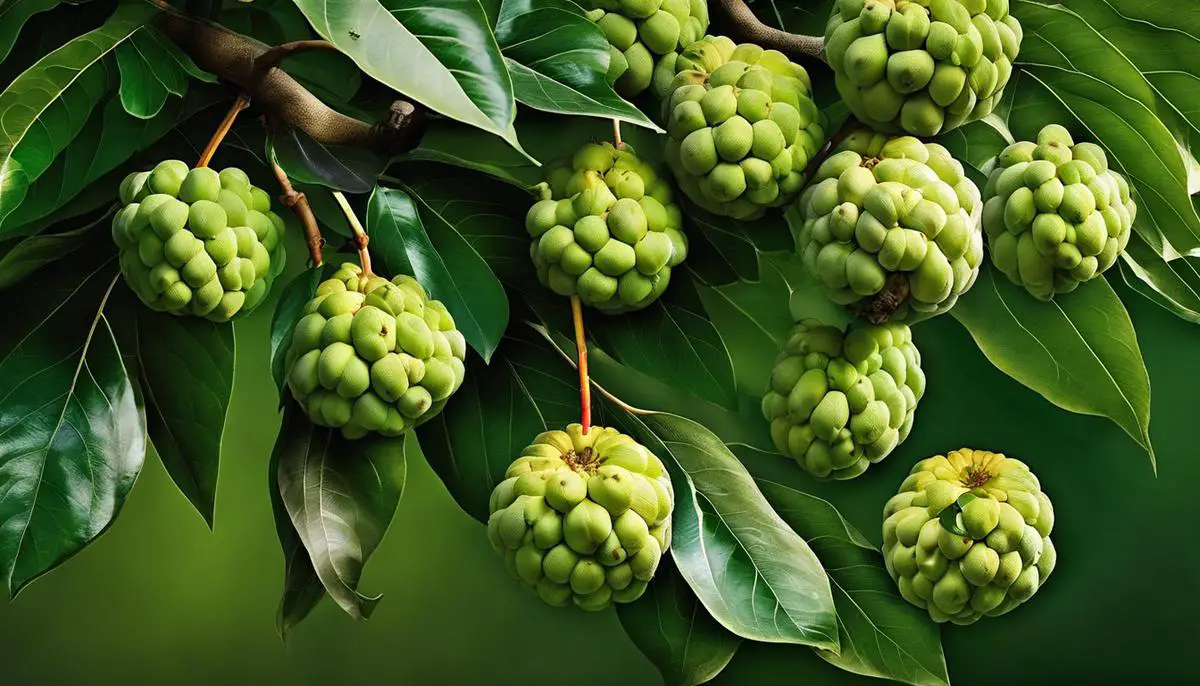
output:
{"label": "broad green leaf pointing down right, below the rightmost upper fruit", "polygon": [[1103,278],[1040,302],[986,265],[950,311],[1000,371],[1073,413],[1112,420],[1150,453],[1150,377]]}

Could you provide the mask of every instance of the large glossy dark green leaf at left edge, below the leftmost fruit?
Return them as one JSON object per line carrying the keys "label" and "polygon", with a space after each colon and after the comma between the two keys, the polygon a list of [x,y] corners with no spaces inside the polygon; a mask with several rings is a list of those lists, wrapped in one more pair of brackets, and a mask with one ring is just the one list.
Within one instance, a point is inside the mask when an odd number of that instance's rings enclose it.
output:
{"label": "large glossy dark green leaf at left edge, below the leftmost fruit", "polygon": [[116,260],[80,254],[13,291],[20,307],[0,327],[0,578],[12,596],[112,525],[145,459],[145,415],[104,314]]}

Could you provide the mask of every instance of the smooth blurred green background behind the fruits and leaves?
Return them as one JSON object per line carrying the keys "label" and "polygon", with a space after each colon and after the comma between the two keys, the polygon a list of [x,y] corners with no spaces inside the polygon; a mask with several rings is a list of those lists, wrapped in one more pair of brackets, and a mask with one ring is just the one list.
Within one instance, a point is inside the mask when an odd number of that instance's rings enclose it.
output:
{"label": "smooth blurred green background behind the fruits and leaves", "polygon": [[[298,254],[298,253],[293,253]],[[1118,282],[1114,272],[1110,278]],[[1058,568],[1018,612],[944,632],[956,684],[1195,682],[1200,650],[1200,330],[1121,287],[1150,368],[1156,479],[1116,426],[1058,410],[983,357],[950,317],[916,331],[929,391],[917,428],[850,483],[791,480],[880,540],[919,458],[964,445],[1027,461],[1057,510]],[[282,558],[266,464],[278,427],[270,306],[238,324],[238,374],[210,532],[151,456],[113,529],[0,606],[0,684],[659,684],[614,612],[544,606],[424,462],[362,583],[355,624],[325,601],[288,644],[274,630]],[[547,357],[547,363],[559,363]],[[744,646],[716,684],[854,684],[797,646]]]}

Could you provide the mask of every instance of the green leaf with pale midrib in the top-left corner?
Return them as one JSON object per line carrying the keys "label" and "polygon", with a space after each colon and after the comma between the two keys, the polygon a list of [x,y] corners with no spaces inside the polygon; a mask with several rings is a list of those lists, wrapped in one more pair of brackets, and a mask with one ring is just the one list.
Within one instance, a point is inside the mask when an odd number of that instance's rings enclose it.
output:
{"label": "green leaf with pale midrib in the top-left corner", "polygon": [[46,55],[0,92],[0,224],[108,90],[104,56],[156,12],[121,5],[103,26]]}

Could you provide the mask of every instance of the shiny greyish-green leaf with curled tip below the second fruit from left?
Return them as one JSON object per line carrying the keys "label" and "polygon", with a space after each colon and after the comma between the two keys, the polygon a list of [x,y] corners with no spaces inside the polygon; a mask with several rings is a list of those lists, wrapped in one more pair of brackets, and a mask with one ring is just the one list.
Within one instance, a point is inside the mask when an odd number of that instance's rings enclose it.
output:
{"label": "shiny greyish-green leaf with curled tip below the second fruit from left", "polygon": [[[404,439],[348,440],[337,429],[313,426],[295,403],[283,417],[275,443],[283,509],[325,591],[347,614],[366,619],[379,596],[362,595],[359,579],[404,489]],[[284,604],[292,590],[289,584]]]}

